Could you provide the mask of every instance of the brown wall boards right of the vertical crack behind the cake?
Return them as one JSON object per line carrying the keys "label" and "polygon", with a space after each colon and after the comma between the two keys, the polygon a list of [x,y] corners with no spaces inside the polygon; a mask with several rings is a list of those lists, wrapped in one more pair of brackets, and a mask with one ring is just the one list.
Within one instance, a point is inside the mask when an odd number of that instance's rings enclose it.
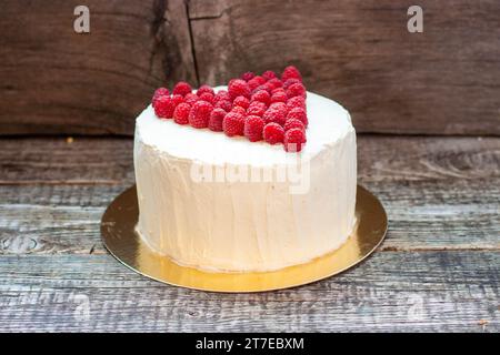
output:
{"label": "brown wall boards right of the vertical crack behind the cake", "polygon": [[297,64],[359,132],[500,134],[500,2],[192,0],[200,81]]}

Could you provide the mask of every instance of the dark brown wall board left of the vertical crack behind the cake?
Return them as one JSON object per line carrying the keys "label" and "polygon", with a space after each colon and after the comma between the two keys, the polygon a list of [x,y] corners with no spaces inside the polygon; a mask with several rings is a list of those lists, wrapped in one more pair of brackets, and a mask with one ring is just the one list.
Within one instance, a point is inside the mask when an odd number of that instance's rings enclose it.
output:
{"label": "dark brown wall board left of the vertical crack behind the cake", "polygon": [[2,1],[0,134],[132,134],[152,91],[196,71],[184,1]]}

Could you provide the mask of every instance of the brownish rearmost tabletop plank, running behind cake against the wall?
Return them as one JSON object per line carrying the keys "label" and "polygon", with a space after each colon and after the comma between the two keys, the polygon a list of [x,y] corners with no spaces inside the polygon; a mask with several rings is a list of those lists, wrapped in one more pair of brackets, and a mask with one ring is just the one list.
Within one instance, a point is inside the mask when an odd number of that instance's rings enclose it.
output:
{"label": "brownish rearmost tabletop plank, running behind cake against the wall", "polygon": [[[3,139],[0,184],[131,184],[132,148],[127,139]],[[360,134],[358,159],[362,183],[499,178],[500,140]]]}

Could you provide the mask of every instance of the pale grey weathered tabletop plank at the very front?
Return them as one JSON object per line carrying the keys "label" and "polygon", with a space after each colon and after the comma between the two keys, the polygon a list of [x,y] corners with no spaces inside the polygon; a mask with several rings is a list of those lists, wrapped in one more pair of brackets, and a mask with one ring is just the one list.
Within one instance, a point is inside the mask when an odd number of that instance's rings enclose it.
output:
{"label": "pale grey weathered tabletop plank at the very front", "polygon": [[327,281],[260,294],[164,286],[108,255],[2,256],[0,329],[498,332],[499,256],[377,253]]}

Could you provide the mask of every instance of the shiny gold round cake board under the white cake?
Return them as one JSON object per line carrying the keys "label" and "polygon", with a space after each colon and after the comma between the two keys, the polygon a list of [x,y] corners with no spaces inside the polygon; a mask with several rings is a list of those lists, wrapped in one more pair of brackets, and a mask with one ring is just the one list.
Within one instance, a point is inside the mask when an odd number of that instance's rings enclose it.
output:
{"label": "shiny gold round cake board under the white cake", "polygon": [[181,266],[152,251],[136,233],[136,186],[111,202],[101,221],[102,241],[123,265],[156,281],[211,292],[263,292],[309,284],[337,275],[370,255],[383,241],[388,221],[380,201],[358,185],[354,231],[338,250],[306,264],[271,272],[207,272]]}

